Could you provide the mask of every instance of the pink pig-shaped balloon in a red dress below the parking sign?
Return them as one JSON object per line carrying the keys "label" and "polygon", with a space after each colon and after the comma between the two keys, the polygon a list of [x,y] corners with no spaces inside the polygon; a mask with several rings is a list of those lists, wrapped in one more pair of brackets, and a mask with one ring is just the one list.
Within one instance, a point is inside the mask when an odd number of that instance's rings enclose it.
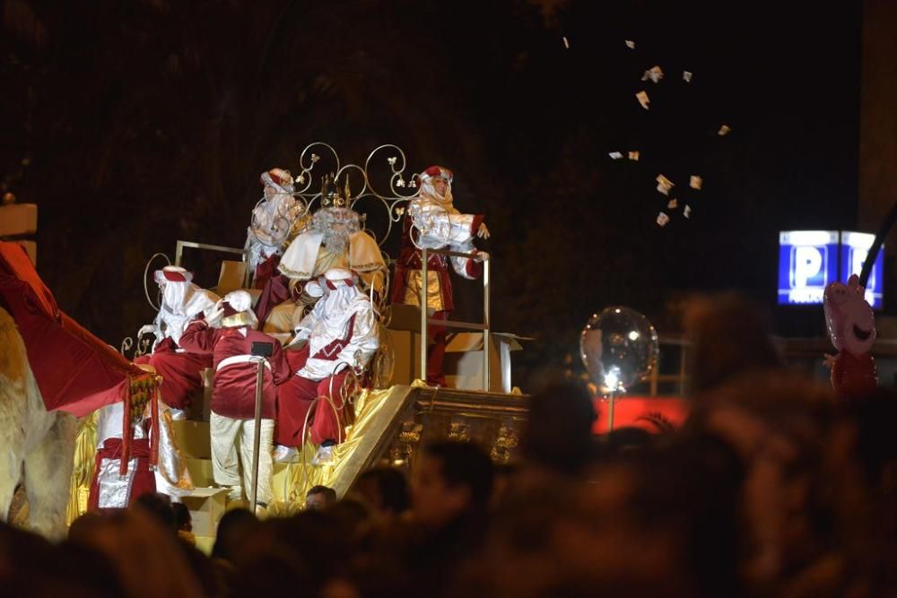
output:
{"label": "pink pig-shaped balloon in a red dress below the parking sign", "polygon": [[875,390],[878,376],[872,345],[875,342],[875,314],[867,303],[859,277],[847,284],[831,282],[823,293],[825,324],[832,345],[838,350],[832,366],[832,388],[844,400],[856,400]]}

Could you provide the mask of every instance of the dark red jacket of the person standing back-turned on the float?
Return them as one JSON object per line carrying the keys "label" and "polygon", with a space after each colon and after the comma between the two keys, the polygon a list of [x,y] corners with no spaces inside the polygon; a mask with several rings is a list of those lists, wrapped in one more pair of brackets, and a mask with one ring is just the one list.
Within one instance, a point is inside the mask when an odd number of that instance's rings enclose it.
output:
{"label": "dark red jacket of the person standing back-turned on the float", "polygon": [[[245,335],[244,335],[245,332]],[[283,356],[280,342],[265,333],[247,326],[237,328],[209,328],[197,320],[187,326],[180,337],[180,346],[187,351],[211,354],[215,368],[215,387],[212,391],[212,411],[235,420],[251,420],[256,413],[257,365],[248,361],[219,368],[222,360],[249,355],[253,342],[270,342],[274,350],[268,358],[262,386],[262,418],[273,420],[277,392],[274,385],[283,384],[292,376],[290,364]]]}

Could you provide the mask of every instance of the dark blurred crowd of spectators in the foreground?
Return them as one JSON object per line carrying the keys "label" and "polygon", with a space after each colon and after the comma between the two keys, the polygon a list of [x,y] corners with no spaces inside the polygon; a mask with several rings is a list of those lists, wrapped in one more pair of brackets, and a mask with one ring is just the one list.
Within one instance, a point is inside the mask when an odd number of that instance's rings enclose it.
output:
{"label": "dark blurred crowd of spectators in the foreground", "polygon": [[157,495],[67,540],[0,527],[0,594],[27,596],[897,595],[897,397],[839,403],[782,367],[742,299],[692,309],[679,429],[591,433],[592,397],[544,375],[518,459],[423,446],[337,500],[227,512],[211,556]]}

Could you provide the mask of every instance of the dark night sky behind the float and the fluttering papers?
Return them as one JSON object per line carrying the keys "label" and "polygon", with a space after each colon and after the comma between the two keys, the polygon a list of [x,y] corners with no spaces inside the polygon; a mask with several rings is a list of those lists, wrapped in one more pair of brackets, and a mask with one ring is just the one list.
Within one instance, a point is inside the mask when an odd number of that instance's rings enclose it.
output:
{"label": "dark night sky behind the float and the fluttering papers", "polygon": [[[492,231],[494,328],[539,339],[523,368],[575,352],[608,305],[675,334],[694,290],[822,334],[822,309],[773,304],[779,230],[856,226],[861,13],[834,4],[7,1],[0,168],[39,204],[60,306],[116,346],[152,319],[146,260],[241,247],[259,173],[295,174],[313,141],[455,171]],[[641,82],[653,65],[666,78]],[[658,173],[680,203],[662,229]],[[458,287],[475,317],[479,287]]]}

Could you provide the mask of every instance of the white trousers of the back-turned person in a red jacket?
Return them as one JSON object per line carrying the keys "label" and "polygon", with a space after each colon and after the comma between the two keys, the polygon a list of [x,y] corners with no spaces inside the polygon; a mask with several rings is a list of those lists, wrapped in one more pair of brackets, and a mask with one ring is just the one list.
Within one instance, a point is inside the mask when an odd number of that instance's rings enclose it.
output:
{"label": "white trousers of the back-turned person in a red jacket", "polygon": [[[239,460],[243,466],[242,487],[247,498],[252,498],[252,447],[255,444],[255,420],[233,420],[212,412],[209,428],[212,436],[212,472],[219,486],[239,487]],[[262,420],[261,438],[258,443],[258,493],[257,501],[271,504],[271,442],[274,438],[274,420]]]}

